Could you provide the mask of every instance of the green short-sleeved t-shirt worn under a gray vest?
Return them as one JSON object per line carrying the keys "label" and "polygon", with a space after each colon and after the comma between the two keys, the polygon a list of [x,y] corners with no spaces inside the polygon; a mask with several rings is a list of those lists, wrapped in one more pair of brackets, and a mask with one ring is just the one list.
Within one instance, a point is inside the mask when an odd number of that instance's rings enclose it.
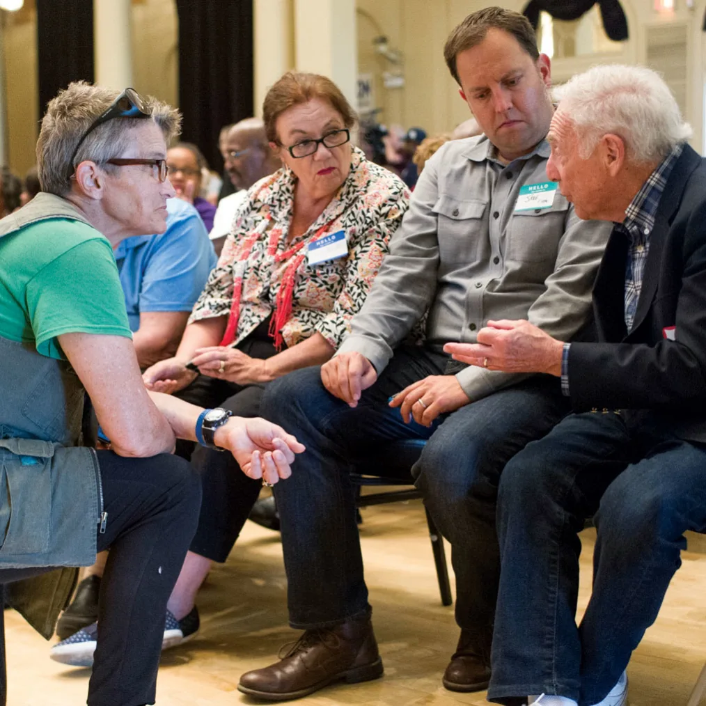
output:
{"label": "green short-sleeved t-shirt worn under a gray vest", "polygon": [[62,333],[132,335],[107,239],[52,218],[0,238],[0,336],[61,360]]}

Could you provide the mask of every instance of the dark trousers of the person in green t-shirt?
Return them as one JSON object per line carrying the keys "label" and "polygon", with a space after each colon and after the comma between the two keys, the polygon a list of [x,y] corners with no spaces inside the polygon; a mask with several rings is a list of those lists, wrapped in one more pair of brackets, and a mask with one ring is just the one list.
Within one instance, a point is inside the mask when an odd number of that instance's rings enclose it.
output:
{"label": "dark trousers of the person in green t-shirt", "polygon": [[88,706],[151,704],[167,599],[196,531],[201,483],[178,456],[97,455],[107,512],[97,549],[110,551],[100,587]]}

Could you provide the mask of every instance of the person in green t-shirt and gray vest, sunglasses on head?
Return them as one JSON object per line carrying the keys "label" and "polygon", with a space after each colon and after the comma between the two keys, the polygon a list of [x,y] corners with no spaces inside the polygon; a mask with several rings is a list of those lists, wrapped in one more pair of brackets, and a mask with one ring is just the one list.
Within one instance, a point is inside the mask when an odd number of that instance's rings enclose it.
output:
{"label": "person in green t-shirt and gray vest, sunglasses on head", "polygon": [[[72,83],[42,119],[42,193],[0,220],[0,585],[48,638],[71,567],[110,550],[89,706],[155,700],[167,599],[201,502],[175,439],[228,450],[268,484],[303,450],[263,419],[143,385],[112,247],[164,232],[179,121],[132,89]],[[109,450],[78,446],[85,393]],[[51,568],[54,578],[28,579]]]}

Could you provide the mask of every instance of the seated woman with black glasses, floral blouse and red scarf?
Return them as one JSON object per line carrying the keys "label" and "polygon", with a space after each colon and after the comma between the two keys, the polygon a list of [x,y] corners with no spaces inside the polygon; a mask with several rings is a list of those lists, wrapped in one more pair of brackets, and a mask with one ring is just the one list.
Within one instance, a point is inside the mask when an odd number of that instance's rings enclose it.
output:
{"label": "seated woman with black glasses, floral blouse and red scarf", "polygon": [[[286,73],[263,119],[282,169],[249,189],[176,357],[143,376],[151,390],[241,417],[258,414],[269,381],[333,356],[409,205],[405,184],[352,145],[357,116],[330,79]],[[193,631],[198,587],[226,560],[261,483],[225,454],[197,449],[192,461],[203,505],[169,610],[191,616]]]}

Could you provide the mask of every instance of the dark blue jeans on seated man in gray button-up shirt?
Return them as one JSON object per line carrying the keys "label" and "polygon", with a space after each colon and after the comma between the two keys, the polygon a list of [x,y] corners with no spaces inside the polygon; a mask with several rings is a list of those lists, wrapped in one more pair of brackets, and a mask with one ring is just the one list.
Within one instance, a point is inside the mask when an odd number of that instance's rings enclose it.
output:
{"label": "dark blue jeans on seated man in gray button-up shirt", "polygon": [[[292,477],[274,489],[292,627],[330,626],[369,611],[349,472],[360,470],[357,459],[382,443],[407,438],[429,439],[415,470],[431,513],[454,543],[457,582],[467,581],[467,590],[459,588],[460,624],[492,624],[498,571],[494,488],[500,469],[530,438],[549,431],[566,407],[556,380],[536,378],[439,417],[429,429],[405,424],[399,409],[388,407],[388,398],[421,378],[442,374],[447,361],[421,347],[397,349],[355,409],[325,390],[318,367],[289,373],[266,388],[263,417],[306,445]],[[469,493],[476,483],[477,504],[485,514],[473,524]]]}

